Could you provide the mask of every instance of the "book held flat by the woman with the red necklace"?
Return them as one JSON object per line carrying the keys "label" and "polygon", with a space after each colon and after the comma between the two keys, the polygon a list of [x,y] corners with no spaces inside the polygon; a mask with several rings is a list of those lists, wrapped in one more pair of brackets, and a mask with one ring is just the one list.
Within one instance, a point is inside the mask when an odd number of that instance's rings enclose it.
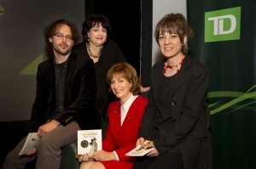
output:
{"label": "book held flat by the woman with the red necklace", "polygon": [[154,148],[147,148],[147,144],[151,143],[151,141],[145,140],[144,147],[142,145],[138,145],[136,148],[131,149],[128,153],[126,153],[126,156],[143,156],[148,154],[150,151],[152,151]]}

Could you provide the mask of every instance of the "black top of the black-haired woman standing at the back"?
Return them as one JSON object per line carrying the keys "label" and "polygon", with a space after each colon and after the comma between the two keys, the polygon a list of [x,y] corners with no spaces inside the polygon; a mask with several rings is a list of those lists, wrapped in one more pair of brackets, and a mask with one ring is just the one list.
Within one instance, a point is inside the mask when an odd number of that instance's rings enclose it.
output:
{"label": "black top of the black-haired woman standing at the back", "polygon": [[[78,56],[85,55],[86,57],[90,57],[85,42],[79,43],[74,47],[73,52]],[[110,101],[113,101],[113,94],[108,92],[109,87],[106,81],[108,70],[112,65],[119,62],[127,61],[117,44],[110,39],[108,42],[104,43],[101,56],[98,62],[95,63],[97,82],[96,110],[100,116],[106,115],[108,104]]]}

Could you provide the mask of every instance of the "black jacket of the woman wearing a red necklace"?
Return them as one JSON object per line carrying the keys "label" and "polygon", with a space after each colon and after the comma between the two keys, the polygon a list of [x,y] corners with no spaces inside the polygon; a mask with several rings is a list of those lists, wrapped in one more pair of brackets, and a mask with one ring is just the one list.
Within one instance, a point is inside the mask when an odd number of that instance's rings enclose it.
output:
{"label": "black jacket of the woman wearing a red necklace", "polygon": [[[137,137],[154,141],[160,155],[178,148],[184,169],[211,169],[212,139],[207,127],[209,111],[206,103],[209,70],[186,55],[181,69],[170,83],[172,85],[163,89],[160,87],[164,87],[161,85],[164,83],[165,61],[160,60],[151,69],[148,104]],[[164,115],[158,102],[160,90],[168,91],[163,98],[167,105]],[[154,131],[156,128],[159,132]],[[155,133],[160,137],[155,137]]]}

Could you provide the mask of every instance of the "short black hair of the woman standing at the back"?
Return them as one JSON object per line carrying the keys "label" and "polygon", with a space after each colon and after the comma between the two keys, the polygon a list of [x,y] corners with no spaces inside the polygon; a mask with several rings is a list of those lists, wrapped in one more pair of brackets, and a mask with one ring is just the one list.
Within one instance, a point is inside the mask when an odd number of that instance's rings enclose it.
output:
{"label": "short black hair of the woman standing at the back", "polygon": [[84,37],[84,41],[88,41],[88,36],[87,33],[90,31],[92,27],[95,25],[101,24],[103,28],[107,30],[107,41],[109,39],[108,35],[110,34],[111,31],[111,25],[108,20],[108,18],[103,15],[103,14],[90,14],[86,17],[83,23],[83,29],[82,29],[82,35]]}

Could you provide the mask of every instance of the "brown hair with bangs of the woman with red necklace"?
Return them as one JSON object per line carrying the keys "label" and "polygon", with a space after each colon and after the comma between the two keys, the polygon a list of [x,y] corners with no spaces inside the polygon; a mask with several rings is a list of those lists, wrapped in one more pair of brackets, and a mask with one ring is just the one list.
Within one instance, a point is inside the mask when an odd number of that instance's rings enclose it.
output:
{"label": "brown hair with bangs of the woman with red necklace", "polygon": [[[159,36],[162,33],[175,33],[183,43],[183,37],[186,36],[188,41],[194,36],[194,31],[189,27],[189,24],[183,14],[166,14],[155,26],[154,37],[159,44]],[[188,41],[183,44],[181,49],[183,54],[188,54]]]}

